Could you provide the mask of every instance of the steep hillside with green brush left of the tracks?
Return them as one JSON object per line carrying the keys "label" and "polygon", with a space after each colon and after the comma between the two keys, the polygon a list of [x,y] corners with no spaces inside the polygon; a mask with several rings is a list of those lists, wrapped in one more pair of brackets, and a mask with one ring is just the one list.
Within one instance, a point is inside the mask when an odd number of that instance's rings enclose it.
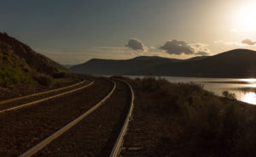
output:
{"label": "steep hillside with green brush left of the tracks", "polygon": [[61,64],[0,32],[0,101],[81,81]]}

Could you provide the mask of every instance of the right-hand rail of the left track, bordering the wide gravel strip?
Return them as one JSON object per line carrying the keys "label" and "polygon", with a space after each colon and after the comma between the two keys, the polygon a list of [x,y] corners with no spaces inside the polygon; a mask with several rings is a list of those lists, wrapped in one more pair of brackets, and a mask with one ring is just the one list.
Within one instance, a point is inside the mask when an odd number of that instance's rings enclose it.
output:
{"label": "right-hand rail of the left track, bordering the wide gravel strip", "polygon": [[32,104],[38,104],[38,103],[44,102],[44,101],[46,101],[46,100],[49,100],[49,99],[51,99],[51,98],[61,97],[61,96],[66,95],[66,94],[68,94],[68,93],[74,93],[74,92],[76,92],[76,91],[79,91],[80,89],[84,89],[84,88],[86,88],[86,87],[90,87],[94,82],[95,82],[95,81],[93,80],[93,81],[91,81],[89,84],[85,85],[84,87],[79,87],[79,88],[77,88],[77,89],[73,89],[73,90],[67,91],[67,92],[65,92],[65,93],[59,93],[59,94],[56,94],[56,95],[54,95],[54,96],[50,96],[50,97],[48,97],[48,98],[42,98],[42,99],[33,101],[33,102],[31,102],[31,103],[21,104],[21,105],[19,105],[19,106],[15,106],[15,107],[12,107],[12,108],[9,108],[9,109],[0,110],[0,114],[2,114],[3,112],[15,110],[15,109],[25,108],[25,107],[27,107],[27,106],[31,106]]}

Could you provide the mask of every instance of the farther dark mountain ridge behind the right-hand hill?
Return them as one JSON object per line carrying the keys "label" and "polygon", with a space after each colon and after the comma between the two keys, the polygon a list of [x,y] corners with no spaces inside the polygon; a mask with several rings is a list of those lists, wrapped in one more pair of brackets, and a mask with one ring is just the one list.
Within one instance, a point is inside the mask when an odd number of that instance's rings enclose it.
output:
{"label": "farther dark mountain ridge behind the right-hand hill", "polygon": [[[205,59],[201,57],[192,58],[193,60]],[[169,59],[158,56],[139,56],[134,59],[113,60],[113,59],[90,59],[84,64],[74,65],[70,68],[73,72],[93,75],[151,75],[151,69],[161,64],[172,64],[182,61],[183,59]]]}

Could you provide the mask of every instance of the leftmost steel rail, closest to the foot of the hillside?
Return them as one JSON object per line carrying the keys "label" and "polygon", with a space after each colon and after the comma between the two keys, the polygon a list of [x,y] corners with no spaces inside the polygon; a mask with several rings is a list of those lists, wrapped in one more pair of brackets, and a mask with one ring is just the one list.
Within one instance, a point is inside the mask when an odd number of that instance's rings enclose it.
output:
{"label": "leftmost steel rail, closest to the foot of the hillside", "polygon": [[33,93],[31,95],[26,95],[26,96],[22,96],[22,97],[18,97],[18,98],[11,98],[11,99],[8,99],[8,100],[3,100],[3,101],[0,101],[0,104],[7,104],[7,103],[11,103],[11,102],[23,99],[23,98],[30,98],[30,97],[34,97],[34,96],[38,96],[38,95],[43,95],[45,93],[54,93],[54,92],[57,92],[57,91],[61,91],[63,89],[67,89],[69,87],[78,86],[78,85],[80,85],[80,84],[82,84],[84,82],[85,82],[85,80],[84,81],[80,81],[79,83],[75,83],[73,85],[67,86],[67,87],[61,87],[61,88],[57,88],[57,89],[53,89],[53,90],[49,90],[49,91],[44,91],[44,92],[41,92],[41,93]]}

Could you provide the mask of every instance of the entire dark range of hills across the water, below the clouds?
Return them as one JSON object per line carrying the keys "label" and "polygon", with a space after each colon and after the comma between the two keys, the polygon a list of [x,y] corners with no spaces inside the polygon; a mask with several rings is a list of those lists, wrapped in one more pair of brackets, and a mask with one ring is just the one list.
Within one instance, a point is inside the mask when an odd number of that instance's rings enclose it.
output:
{"label": "entire dark range of hills across the water, below the clouds", "polygon": [[127,60],[91,59],[70,70],[95,75],[256,77],[256,52],[235,49],[185,60],[145,56]]}

